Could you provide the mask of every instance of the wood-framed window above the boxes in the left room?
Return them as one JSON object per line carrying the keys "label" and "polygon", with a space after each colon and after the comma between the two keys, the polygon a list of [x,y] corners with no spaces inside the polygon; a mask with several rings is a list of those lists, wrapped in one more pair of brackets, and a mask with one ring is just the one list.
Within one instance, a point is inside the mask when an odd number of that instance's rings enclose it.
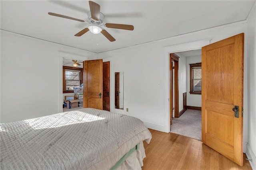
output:
{"label": "wood-framed window above the boxes in the left room", "polygon": [[63,93],[73,93],[74,87],[80,87],[83,82],[82,70],[83,68],[63,66]]}

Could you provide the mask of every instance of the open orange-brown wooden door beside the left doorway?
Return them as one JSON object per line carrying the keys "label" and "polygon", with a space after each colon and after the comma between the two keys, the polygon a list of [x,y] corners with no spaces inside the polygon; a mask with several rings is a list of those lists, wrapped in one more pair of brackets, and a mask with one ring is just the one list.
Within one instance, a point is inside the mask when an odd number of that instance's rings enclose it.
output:
{"label": "open orange-brown wooden door beside the left doorway", "polygon": [[103,108],[102,101],[102,70],[100,60],[84,61],[84,107],[95,109]]}

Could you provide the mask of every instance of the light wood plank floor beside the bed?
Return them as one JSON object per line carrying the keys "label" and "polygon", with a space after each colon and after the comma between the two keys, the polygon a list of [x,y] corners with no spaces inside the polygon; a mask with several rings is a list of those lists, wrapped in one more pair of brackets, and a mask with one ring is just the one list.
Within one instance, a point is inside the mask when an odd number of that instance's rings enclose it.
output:
{"label": "light wood plank floor beside the bed", "polygon": [[150,144],[144,142],[146,158],[142,170],[252,170],[245,154],[241,167],[201,141],[149,130],[152,139]]}

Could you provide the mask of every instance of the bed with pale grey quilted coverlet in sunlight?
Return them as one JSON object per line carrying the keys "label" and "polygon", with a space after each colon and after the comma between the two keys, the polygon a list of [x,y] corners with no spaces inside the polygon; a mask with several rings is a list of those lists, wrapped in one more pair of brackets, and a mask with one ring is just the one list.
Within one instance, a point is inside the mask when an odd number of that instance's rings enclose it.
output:
{"label": "bed with pale grey quilted coverlet in sunlight", "polygon": [[135,117],[84,108],[0,124],[0,169],[141,169],[151,133]]}

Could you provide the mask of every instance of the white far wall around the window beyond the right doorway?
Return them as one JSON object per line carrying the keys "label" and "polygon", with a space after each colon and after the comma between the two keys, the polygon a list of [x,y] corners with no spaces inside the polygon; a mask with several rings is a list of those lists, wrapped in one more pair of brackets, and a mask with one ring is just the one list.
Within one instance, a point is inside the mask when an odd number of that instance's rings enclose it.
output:
{"label": "white far wall around the window beyond the right doorway", "polygon": [[194,63],[201,63],[201,56],[186,57],[186,71],[187,71],[187,106],[202,107],[202,95],[190,94],[190,65]]}

